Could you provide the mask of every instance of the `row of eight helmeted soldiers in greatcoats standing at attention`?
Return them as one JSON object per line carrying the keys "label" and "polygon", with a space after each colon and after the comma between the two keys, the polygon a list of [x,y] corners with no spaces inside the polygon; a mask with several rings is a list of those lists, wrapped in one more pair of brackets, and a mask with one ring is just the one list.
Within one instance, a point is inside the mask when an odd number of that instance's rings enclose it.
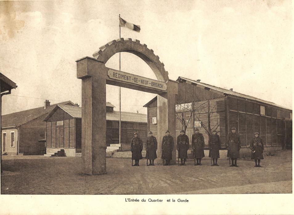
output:
{"label": "row of eight helmeted soldiers in greatcoats standing at attention", "polygon": [[[201,159],[205,157],[204,155],[204,137],[201,133],[199,133],[199,129],[195,129],[195,133],[192,135],[191,140],[192,148],[194,151],[194,158],[197,160],[195,165],[202,166]],[[177,150],[178,150],[178,158],[181,159],[181,166],[186,166],[186,159],[188,157],[188,149],[190,147],[189,138],[185,134],[185,131],[182,130],[181,134],[177,137]],[[255,132],[254,138],[251,140],[250,148],[251,159],[255,160],[255,167],[260,166],[260,160],[263,159],[263,142],[262,139],[259,138],[259,133]],[[161,158],[165,160],[164,166],[170,165],[170,160],[172,159],[172,151],[174,149],[174,138],[169,135],[169,131],[165,132],[165,136],[162,138],[161,143],[162,155]],[[221,142],[217,131],[214,130],[212,135],[209,136],[209,157],[212,158],[213,164],[211,166],[219,166],[218,158],[219,158],[219,150],[221,149]],[[227,157],[231,159],[230,166],[237,165],[237,158],[240,156],[241,149],[241,139],[240,135],[236,132],[236,128],[232,127],[230,134],[227,137]],[[134,166],[139,166],[139,160],[142,159],[142,150],[143,150],[143,142],[141,138],[138,137],[137,133],[134,133],[134,138],[131,141],[131,151],[132,151],[132,160],[135,160]],[[154,159],[157,158],[157,139],[153,136],[152,132],[149,131],[148,137],[146,138],[146,158],[149,159],[148,166],[154,166]]]}

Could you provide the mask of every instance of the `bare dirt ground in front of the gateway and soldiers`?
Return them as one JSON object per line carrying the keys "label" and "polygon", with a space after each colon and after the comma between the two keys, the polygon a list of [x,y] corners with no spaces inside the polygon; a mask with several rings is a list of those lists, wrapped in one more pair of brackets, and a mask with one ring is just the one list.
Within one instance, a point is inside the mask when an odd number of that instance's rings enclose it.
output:
{"label": "bare dirt ground in front of the gateway and soldiers", "polygon": [[131,166],[128,158],[107,158],[107,174],[82,175],[81,158],[3,156],[1,194],[220,194],[292,193],[292,151],[265,155],[262,167],[241,159],[239,167]]}

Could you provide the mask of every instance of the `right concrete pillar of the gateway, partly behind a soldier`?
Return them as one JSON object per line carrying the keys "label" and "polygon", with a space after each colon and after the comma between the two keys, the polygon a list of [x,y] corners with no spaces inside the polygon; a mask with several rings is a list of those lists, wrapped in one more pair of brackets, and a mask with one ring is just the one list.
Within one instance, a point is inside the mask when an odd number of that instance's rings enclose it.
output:
{"label": "right concrete pillar of the gateway, partly behind a soldier", "polygon": [[170,164],[176,164],[176,94],[178,94],[178,82],[169,80],[167,92],[157,95],[157,164],[162,164],[161,143],[166,130],[169,130],[169,135],[174,138],[173,159]]}

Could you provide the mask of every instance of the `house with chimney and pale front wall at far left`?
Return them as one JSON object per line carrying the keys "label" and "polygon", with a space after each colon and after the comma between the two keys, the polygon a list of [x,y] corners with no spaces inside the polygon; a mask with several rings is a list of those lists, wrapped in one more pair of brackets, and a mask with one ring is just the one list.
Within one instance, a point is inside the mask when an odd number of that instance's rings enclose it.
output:
{"label": "house with chimney and pale front wall at far left", "polygon": [[[77,105],[71,101],[58,104]],[[41,151],[45,149],[46,135],[46,123],[43,120],[56,105],[50,105],[49,100],[46,100],[43,107],[2,115],[2,153],[12,155],[41,154]]]}

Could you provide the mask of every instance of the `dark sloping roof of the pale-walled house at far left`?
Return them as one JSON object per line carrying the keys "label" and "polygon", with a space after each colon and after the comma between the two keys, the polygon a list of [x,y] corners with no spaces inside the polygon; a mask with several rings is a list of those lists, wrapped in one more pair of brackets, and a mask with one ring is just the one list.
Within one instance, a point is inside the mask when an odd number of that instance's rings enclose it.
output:
{"label": "dark sloping roof of the pale-walled house at far left", "polygon": [[[71,101],[66,101],[66,102],[60,102],[57,104],[71,104],[75,105]],[[1,127],[18,127],[21,126],[24,123],[30,122],[33,119],[36,119],[42,115],[45,118],[45,116],[51,112],[57,104],[52,104],[48,108],[44,109],[43,107],[39,108],[33,108],[25,111],[19,111],[19,112],[14,112],[6,115],[1,116]]]}

